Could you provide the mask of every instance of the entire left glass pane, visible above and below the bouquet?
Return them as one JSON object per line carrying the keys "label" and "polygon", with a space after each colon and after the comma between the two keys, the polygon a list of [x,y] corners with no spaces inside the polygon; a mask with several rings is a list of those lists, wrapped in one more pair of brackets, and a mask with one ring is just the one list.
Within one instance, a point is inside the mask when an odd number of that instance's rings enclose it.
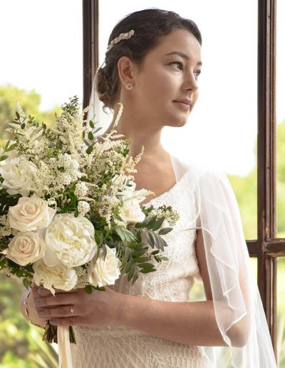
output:
{"label": "entire left glass pane, visible above and below the bouquet", "polygon": [[[0,140],[16,101],[51,124],[58,106],[83,99],[82,1],[0,1]],[[0,274],[0,367],[57,367],[57,344],[20,312],[21,280]]]}

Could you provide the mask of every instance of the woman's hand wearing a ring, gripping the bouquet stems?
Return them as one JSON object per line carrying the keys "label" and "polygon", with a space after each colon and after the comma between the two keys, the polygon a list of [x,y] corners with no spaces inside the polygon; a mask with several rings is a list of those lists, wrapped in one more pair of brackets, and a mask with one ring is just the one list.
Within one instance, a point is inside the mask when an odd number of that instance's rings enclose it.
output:
{"label": "woman's hand wearing a ring, gripping the bouquet stems", "polygon": [[44,287],[33,285],[33,301],[38,317],[50,320],[57,326],[103,327],[117,324],[123,294],[105,286],[105,291],[83,289],[65,292],[56,290],[56,295]]}

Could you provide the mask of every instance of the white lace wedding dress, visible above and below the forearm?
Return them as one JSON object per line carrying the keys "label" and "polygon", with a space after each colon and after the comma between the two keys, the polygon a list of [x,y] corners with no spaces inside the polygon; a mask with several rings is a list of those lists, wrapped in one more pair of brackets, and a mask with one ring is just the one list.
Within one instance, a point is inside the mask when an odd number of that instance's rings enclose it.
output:
{"label": "white lace wedding dress, visible above and below the forearm", "polygon": [[[139,273],[133,286],[122,275],[113,290],[153,300],[171,302],[190,301],[190,290],[195,283],[202,283],[195,254],[194,180],[192,169],[187,168],[177,183],[145,204],[171,205],[180,213],[180,220],[164,239],[168,244],[164,254],[167,261],[157,263],[156,272]],[[191,225],[192,222],[192,226]],[[71,344],[74,368],[206,368],[212,367],[202,347],[190,346],[154,337],[125,326],[100,328],[74,327],[77,344]]]}

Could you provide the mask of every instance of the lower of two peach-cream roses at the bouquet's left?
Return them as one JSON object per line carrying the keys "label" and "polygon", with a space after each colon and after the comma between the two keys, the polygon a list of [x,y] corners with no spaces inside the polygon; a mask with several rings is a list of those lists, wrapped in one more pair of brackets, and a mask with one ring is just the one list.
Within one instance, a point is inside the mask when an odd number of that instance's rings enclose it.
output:
{"label": "lower of two peach-cream roses at the bouquet's left", "polygon": [[18,265],[26,266],[43,258],[45,250],[46,244],[38,233],[28,231],[13,237],[8,248],[1,253]]}

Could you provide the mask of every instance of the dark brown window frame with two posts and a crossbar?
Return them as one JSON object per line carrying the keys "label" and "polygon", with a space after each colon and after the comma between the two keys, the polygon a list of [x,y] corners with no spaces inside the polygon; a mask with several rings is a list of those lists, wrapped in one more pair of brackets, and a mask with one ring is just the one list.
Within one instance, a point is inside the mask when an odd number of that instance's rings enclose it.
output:
{"label": "dark brown window frame with two posts and a crossbar", "polygon": [[[276,237],[276,1],[258,0],[257,49],[257,283],[277,360],[277,258],[285,238]],[[83,106],[88,106],[98,68],[99,0],[83,0]]]}

